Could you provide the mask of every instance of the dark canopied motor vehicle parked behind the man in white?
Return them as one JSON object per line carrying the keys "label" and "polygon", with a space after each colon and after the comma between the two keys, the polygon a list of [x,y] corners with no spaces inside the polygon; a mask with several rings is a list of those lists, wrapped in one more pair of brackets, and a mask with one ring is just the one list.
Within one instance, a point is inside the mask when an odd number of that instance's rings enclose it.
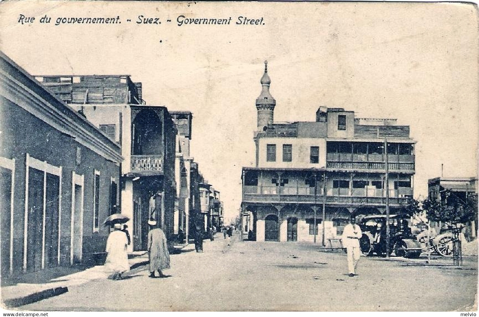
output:
{"label": "dark canopied motor vehicle parked behind the man in white", "polygon": [[[364,255],[386,255],[386,215],[367,215],[358,222],[363,236],[359,240]],[[411,234],[411,228],[401,215],[389,216],[389,255],[419,258],[421,245]]]}

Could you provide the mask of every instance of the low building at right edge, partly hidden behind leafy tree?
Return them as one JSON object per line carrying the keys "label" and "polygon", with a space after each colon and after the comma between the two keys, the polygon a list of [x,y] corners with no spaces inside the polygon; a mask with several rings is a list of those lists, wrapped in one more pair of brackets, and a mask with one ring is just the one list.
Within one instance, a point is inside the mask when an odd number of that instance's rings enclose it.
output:
{"label": "low building at right edge, partly hidden behind leafy tree", "polygon": [[[471,198],[477,202],[478,178],[477,177],[436,177],[427,181],[428,198],[430,200],[445,201],[448,205],[465,206],[470,204]],[[433,224],[436,232],[440,232],[440,224]],[[477,237],[478,218],[466,225],[467,238]]]}

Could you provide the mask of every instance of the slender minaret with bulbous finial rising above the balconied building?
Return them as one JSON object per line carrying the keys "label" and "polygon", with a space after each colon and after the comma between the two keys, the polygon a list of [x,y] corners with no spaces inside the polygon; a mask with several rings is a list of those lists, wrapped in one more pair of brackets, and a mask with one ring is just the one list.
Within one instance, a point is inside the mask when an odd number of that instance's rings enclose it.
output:
{"label": "slender minaret with bulbous finial rising above the balconied building", "polygon": [[262,91],[256,99],[256,109],[258,111],[258,132],[265,131],[268,125],[273,124],[273,112],[276,101],[269,92],[271,79],[268,76],[268,61],[264,61],[264,74],[261,78]]}

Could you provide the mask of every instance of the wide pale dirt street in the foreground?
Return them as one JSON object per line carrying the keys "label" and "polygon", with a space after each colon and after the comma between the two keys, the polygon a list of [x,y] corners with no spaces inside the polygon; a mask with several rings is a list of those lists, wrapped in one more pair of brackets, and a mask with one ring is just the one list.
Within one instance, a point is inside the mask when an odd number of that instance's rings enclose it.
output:
{"label": "wide pale dirt street in the foreground", "polygon": [[[171,277],[148,267],[122,281],[94,280],[21,310],[68,311],[470,311],[477,257],[362,257],[349,277],[346,255],[296,242],[240,242],[217,234],[204,253],[188,246],[171,256]],[[446,265],[445,265],[446,264]]]}

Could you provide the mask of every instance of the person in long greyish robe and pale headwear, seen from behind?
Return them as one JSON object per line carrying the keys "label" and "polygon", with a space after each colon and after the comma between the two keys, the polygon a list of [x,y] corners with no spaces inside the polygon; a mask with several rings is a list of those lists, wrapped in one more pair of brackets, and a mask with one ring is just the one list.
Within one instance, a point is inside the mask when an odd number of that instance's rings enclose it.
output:
{"label": "person in long greyish robe and pale headwear, seen from behind", "polygon": [[158,271],[160,278],[168,277],[161,270],[170,268],[170,253],[163,230],[156,227],[156,221],[148,221],[150,231],[148,232],[149,270],[151,278],[156,278],[155,271]]}

